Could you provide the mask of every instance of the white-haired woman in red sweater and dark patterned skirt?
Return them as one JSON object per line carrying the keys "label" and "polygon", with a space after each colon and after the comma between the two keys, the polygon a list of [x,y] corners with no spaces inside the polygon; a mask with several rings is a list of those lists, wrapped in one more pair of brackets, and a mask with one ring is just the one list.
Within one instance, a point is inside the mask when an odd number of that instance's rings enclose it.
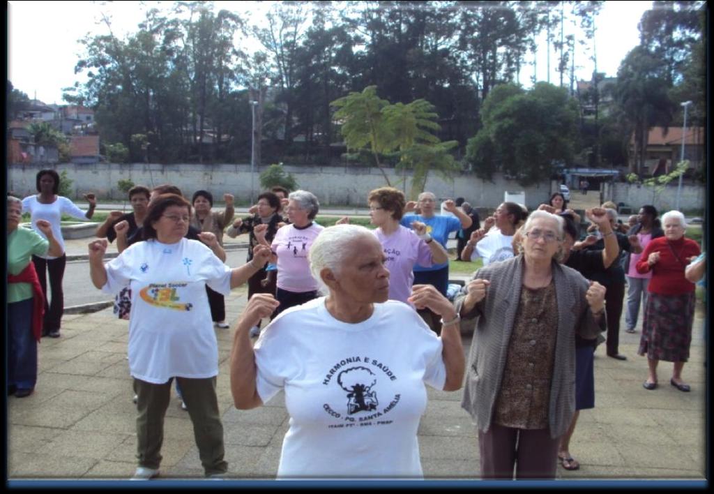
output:
{"label": "white-haired woman in red sweater and dark patterned skirt", "polygon": [[648,378],[645,390],[657,387],[657,364],[660,360],[674,362],[670,384],[680,391],[689,391],[682,380],[682,367],[689,358],[694,320],[694,284],[684,277],[690,260],[700,253],[699,244],[684,237],[687,224],[679,211],[662,217],[664,237],[650,241],[635,268],[645,274],[652,272],[648,286],[639,355],[647,355]]}

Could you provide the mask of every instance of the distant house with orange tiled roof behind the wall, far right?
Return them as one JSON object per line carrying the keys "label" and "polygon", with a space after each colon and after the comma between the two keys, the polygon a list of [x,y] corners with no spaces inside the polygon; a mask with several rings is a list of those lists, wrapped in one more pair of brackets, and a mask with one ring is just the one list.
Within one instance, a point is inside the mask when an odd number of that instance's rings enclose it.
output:
{"label": "distant house with orange tiled roof behind the wall, far right", "polygon": [[[657,176],[673,170],[673,164],[680,161],[682,152],[682,127],[653,127],[650,129],[645,151],[643,174]],[[687,127],[684,142],[684,159],[688,159],[690,169],[698,169],[704,157],[704,127]],[[635,135],[630,137],[630,161],[635,159]]]}

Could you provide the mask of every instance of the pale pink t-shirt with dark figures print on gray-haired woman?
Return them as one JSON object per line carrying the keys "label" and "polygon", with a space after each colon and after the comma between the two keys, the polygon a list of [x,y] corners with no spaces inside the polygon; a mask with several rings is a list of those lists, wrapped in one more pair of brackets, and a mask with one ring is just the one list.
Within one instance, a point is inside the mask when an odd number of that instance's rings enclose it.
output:
{"label": "pale pink t-shirt with dark figures print on gray-haired woman", "polygon": [[286,224],[278,229],[271,243],[271,250],[278,255],[278,288],[296,293],[318,289],[318,283],[310,273],[308,252],[323,229],[325,227],[316,223],[307,228]]}

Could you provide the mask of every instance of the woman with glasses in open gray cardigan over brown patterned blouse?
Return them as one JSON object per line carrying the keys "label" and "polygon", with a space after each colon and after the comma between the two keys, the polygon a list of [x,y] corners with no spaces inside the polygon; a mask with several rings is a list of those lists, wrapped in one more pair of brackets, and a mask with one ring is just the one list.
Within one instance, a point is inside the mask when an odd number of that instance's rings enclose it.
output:
{"label": "woman with glasses in open gray cardigan over brown patterned blouse", "polygon": [[478,270],[456,298],[478,318],[461,406],[478,428],[482,478],[555,478],[575,412],[575,334],[606,328],[605,287],[558,264],[563,219],[536,211],[523,254]]}

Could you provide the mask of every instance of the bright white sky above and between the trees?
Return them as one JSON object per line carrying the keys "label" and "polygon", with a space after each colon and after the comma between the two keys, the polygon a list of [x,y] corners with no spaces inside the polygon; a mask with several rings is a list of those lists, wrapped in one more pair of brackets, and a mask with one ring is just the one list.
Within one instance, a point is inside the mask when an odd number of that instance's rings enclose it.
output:
{"label": "bright white sky above and between the trees", "polygon": [[[272,2],[260,3],[260,7],[253,1],[215,1],[214,5],[216,11],[224,8],[241,14],[256,14],[257,21],[261,16],[259,11]],[[74,74],[74,66],[82,52],[77,40],[89,31],[106,33],[106,26],[98,22],[100,9],[111,12],[115,34],[119,37],[136,31],[136,25],[143,17],[138,1],[104,6],[91,1],[14,0],[8,4],[8,79],[30,98],[36,95],[47,104],[63,104],[61,89],[72,86],[77,80],[84,81],[81,74]],[[145,1],[144,4],[168,6],[171,2]],[[598,71],[604,71],[607,76],[617,74],[620,61],[639,43],[637,25],[643,12],[651,6],[651,1],[605,1],[596,20]],[[565,31],[567,34],[568,26]],[[545,42],[539,45],[538,53],[538,79],[546,80]],[[583,66],[576,69],[577,78],[589,80],[593,62],[578,51],[575,63]],[[550,82],[553,84],[559,81],[555,71],[557,64],[556,54],[551,51]],[[521,84],[529,87],[532,74],[533,67],[524,66]]]}

